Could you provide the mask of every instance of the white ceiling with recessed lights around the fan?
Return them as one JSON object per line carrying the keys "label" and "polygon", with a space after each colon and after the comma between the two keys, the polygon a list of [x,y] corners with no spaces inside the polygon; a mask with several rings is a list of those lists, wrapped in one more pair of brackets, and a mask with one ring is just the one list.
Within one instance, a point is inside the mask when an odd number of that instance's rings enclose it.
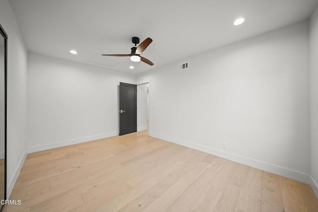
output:
{"label": "white ceiling with recessed lights around the fan", "polygon": [[[29,52],[132,74],[305,20],[317,4],[317,0],[9,1]],[[245,22],[234,26],[239,16]],[[129,54],[133,36],[154,40],[142,53],[154,66],[128,57],[100,56]],[[79,54],[70,54],[71,49]]]}

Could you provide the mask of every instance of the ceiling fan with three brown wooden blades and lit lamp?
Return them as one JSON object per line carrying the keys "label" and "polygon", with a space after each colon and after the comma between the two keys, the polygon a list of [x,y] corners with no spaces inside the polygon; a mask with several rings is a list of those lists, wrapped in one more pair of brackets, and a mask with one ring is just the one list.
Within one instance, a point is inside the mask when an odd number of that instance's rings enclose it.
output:
{"label": "ceiling fan with three brown wooden blades and lit lamp", "polygon": [[[139,38],[138,37],[132,37],[132,42],[135,44],[134,47],[131,48],[131,53],[127,55],[103,55],[103,56],[117,56],[117,57],[130,57],[130,60],[133,62],[139,62],[142,61],[150,66],[153,66],[154,63],[148,60],[147,58],[144,58],[140,56],[140,54],[145,51],[145,49],[153,42],[153,39],[147,38],[141,44],[139,44]],[[139,46],[137,47],[137,44]]]}

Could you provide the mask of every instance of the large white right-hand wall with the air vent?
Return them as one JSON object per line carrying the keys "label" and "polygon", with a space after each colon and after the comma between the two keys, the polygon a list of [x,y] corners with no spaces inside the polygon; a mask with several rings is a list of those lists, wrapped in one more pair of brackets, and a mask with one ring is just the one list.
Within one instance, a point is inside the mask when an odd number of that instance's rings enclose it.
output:
{"label": "large white right-hand wall with the air vent", "polygon": [[308,21],[142,75],[151,136],[309,182]]}

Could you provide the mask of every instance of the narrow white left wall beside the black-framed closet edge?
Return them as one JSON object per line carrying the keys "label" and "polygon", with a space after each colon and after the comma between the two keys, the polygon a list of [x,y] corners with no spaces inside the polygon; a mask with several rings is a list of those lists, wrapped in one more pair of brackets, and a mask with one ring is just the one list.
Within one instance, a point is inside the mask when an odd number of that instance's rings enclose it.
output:
{"label": "narrow white left wall beside the black-framed closet edge", "polygon": [[[7,197],[27,154],[27,50],[7,0],[0,0],[0,23],[8,35]],[[19,161],[18,161],[19,158]]]}

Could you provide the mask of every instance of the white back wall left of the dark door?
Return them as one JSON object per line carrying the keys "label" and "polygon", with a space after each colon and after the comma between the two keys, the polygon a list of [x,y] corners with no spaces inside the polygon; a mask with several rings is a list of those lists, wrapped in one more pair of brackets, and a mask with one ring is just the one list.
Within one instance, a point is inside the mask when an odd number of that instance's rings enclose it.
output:
{"label": "white back wall left of the dark door", "polygon": [[119,82],[136,77],[30,53],[29,152],[118,135]]}

